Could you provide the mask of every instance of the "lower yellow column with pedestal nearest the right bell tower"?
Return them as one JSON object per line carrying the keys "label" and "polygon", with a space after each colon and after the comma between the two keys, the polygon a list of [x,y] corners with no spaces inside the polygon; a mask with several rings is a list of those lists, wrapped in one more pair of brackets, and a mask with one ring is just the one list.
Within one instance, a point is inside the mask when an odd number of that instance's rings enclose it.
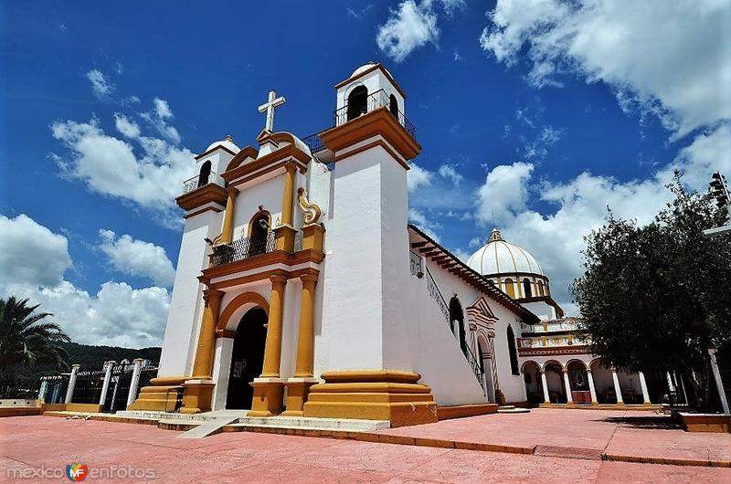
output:
{"label": "lower yellow column with pedestal nearest the right bell tower", "polygon": [[297,363],[294,377],[287,381],[287,411],[284,416],[302,416],[304,403],[310,393],[310,387],[317,384],[313,378],[314,359],[314,286],[317,283],[317,272],[303,274],[302,298],[300,300],[300,331],[297,339]]}

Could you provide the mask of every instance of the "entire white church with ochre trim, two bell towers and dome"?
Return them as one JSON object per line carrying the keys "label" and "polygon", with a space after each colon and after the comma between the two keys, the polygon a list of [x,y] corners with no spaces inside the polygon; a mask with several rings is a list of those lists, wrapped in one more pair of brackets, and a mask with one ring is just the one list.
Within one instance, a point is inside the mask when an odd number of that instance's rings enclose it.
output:
{"label": "entire white church with ochre trim, two bell towers and dome", "polygon": [[131,410],[170,411],[180,388],[188,414],[391,426],[505,403],[651,404],[644,375],[588,354],[527,251],[493,230],[465,263],[408,224],[421,147],[387,68],[335,90],[332,128],[276,132],[270,92],[258,148],[228,136],[196,156],[159,374]]}

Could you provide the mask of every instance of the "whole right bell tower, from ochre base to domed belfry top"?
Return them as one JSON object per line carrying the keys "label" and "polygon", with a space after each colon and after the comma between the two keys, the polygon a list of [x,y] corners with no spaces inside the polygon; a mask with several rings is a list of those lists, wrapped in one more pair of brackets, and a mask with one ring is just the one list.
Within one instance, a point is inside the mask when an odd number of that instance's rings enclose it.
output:
{"label": "whole right bell tower, from ochre base to domed belfry top", "polygon": [[[334,161],[323,281],[333,343],[320,355],[331,370],[312,387],[304,415],[432,421],[429,387],[411,372],[398,293],[409,277],[408,160],[421,146],[404,115],[406,96],[381,64],[355,69],[335,90],[334,127],[320,133]],[[391,395],[399,384],[408,390]]]}

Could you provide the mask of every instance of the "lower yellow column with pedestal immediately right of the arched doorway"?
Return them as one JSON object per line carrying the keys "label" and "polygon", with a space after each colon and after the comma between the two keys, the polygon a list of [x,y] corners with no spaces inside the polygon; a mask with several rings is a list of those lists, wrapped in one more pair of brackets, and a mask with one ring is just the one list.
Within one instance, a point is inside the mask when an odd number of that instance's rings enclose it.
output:
{"label": "lower yellow column with pedestal immediately right of the arched doorway", "polygon": [[264,342],[264,364],[259,378],[251,386],[254,397],[251,400],[249,416],[274,416],[281,412],[284,382],[280,378],[281,323],[284,311],[284,288],[287,278],[274,274],[271,280],[267,340]]}

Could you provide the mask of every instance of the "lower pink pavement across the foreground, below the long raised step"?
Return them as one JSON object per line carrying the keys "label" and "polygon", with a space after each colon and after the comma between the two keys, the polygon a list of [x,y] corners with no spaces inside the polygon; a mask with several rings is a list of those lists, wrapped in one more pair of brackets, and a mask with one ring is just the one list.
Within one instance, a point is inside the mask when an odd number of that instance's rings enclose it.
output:
{"label": "lower pink pavement across the foreground, below the long raised step", "polygon": [[[476,430],[478,421],[469,420],[471,432],[483,431]],[[462,424],[467,420],[451,422]],[[514,426],[514,433],[519,430]],[[112,465],[151,469],[157,479],[165,482],[696,483],[731,479],[731,470],[725,468],[547,458],[246,432],[201,440],[179,439],[177,435],[154,426],[48,416],[3,418],[0,480],[17,469],[63,468],[75,461],[90,469]],[[87,479],[94,481],[103,479]]]}

